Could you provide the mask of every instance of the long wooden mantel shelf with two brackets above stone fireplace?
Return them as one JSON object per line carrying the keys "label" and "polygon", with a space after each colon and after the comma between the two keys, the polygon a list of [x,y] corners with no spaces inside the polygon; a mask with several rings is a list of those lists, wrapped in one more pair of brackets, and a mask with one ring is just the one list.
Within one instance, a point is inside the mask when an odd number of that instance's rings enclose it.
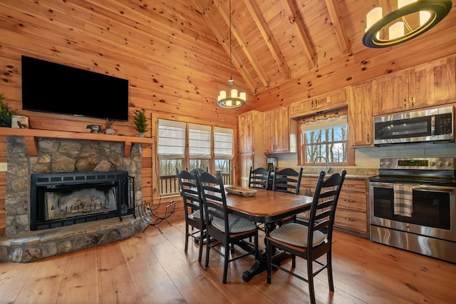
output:
{"label": "long wooden mantel shelf with two brackets above stone fireplace", "polygon": [[152,138],[137,136],[106,135],[104,133],[86,133],[69,131],[50,131],[28,128],[0,128],[0,136],[24,137],[29,156],[38,155],[38,138],[76,139],[81,141],[118,141],[124,143],[123,156],[129,157],[133,143],[152,144]]}

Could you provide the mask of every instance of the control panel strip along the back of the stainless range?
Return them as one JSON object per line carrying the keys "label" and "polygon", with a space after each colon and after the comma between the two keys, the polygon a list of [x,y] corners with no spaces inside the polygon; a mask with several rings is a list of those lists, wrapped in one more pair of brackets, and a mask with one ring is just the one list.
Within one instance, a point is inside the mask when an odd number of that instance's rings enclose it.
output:
{"label": "control panel strip along the back of the stainless range", "polygon": [[380,169],[455,170],[454,157],[380,158]]}

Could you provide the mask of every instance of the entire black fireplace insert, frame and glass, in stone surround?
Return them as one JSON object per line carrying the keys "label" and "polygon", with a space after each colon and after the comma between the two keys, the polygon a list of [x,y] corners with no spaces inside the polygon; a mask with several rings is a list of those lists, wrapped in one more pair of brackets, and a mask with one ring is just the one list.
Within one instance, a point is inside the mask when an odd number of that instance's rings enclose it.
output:
{"label": "entire black fireplace insert, frame and glass, in stone surround", "polygon": [[128,171],[44,173],[30,179],[31,230],[135,215]]}

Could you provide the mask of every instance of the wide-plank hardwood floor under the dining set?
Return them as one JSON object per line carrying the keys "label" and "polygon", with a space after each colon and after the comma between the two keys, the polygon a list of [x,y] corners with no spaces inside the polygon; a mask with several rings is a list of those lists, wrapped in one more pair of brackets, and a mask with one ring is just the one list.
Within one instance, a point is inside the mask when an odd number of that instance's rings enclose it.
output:
{"label": "wide-plank hardwood floor under the dining set", "polygon": [[[308,286],[282,271],[249,283],[247,257],[199,264],[197,245],[184,253],[184,223],[149,227],[133,238],[34,263],[0,263],[0,303],[309,303]],[[335,231],[335,292],[316,277],[318,303],[456,303],[456,265]],[[264,245],[260,241],[261,245]],[[304,260],[296,271],[305,273]]]}

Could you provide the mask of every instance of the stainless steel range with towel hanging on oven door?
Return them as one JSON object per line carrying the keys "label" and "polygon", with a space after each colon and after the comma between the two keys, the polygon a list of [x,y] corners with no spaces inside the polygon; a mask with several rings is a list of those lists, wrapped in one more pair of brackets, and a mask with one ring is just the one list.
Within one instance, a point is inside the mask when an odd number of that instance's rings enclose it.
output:
{"label": "stainless steel range with towel hanging on oven door", "polygon": [[456,263],[455,168],[455,158],[380,159],[371,240]]}

